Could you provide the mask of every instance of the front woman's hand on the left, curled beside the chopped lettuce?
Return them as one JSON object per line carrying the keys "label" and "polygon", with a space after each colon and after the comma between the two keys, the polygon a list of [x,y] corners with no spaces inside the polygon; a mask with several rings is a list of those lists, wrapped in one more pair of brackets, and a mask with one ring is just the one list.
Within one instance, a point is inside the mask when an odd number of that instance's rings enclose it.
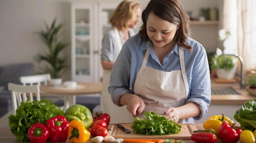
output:
{"label": "front woman's hand on the left, curled beside the chopped lettuce", "polygon": [[144,111],[144,101],[135,94],[125,93],[121,96],[119,101],[120,104],[124,103],[123,105],[127,105],[126,108],[133,117],[137,117],[137,113],[141,114],[142,111]]}

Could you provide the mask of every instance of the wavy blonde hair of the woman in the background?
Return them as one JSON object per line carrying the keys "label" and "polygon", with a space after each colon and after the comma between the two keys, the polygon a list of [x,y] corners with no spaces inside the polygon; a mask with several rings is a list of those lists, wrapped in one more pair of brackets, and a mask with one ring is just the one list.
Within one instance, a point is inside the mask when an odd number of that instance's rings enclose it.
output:
{"label": "wavy blonde hair of the woman in the background", "polygon": [[141,6],[134,0],[122,1],[110,17],[110,24],[119,30],[127,28],[132,22],[137,20],[137,8],[141,8]]}

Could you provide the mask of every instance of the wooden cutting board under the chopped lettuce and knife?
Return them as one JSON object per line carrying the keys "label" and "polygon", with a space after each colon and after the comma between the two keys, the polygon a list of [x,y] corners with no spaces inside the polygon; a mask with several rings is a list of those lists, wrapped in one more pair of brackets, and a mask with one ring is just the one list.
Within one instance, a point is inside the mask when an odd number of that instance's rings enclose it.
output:
{"label": "wooden cutting board under the chopped lettuce and knife", "polygon": [[116,124],[110,124],[108,128],[111,130],[108,132],[108,135],[113,136],[115,139],[184,139],[190,140],[191,135],[194,130],[198,130],[195,124],[180,124],[181,131],[178,134],[170,134],[170,135],[142,135],[142,134],[134,134],[132,132],[131,123],[120,123],[124,128],[127,128],[131,131],[131,133],[125,133],[123,130],[117,127]]}

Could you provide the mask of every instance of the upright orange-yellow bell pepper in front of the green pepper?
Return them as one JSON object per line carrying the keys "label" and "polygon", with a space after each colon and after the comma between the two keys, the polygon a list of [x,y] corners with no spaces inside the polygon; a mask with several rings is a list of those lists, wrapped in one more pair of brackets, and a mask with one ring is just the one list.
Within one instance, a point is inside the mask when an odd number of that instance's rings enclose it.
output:
{"label": "upright orange-yellow bell pepper in front of the green pepper", "polygon": [[85,129],[83,123],[73,120],[68,127],[67,139],[70,143],[85,143],[90,139],[90,132]]}

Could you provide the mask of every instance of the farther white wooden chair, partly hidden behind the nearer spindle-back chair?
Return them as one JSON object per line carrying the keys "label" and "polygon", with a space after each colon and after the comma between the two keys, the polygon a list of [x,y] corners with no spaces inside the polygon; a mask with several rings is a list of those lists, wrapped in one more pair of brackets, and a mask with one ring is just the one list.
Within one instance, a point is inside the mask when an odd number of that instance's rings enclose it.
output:
{"label": "farther white wooden chair, partly hidden behind the nearer spindle-back chair", "polygon": [[[47,85],[47,82],[51,80],[50,74],[39,74],[34,76],[21,76],[20,82],[25,85],[41,85],[41,82],[44,82],[45,85]],[[30,93],[29,95],[30,100],[33,101],[33,95]]]}

